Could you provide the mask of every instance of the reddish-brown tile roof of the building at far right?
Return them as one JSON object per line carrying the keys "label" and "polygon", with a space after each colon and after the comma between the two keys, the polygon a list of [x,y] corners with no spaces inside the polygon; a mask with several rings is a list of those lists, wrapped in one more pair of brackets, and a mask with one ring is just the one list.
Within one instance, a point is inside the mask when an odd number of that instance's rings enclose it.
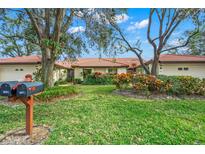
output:
{"label": "reddish-brown tile roof of the building at far right", "polygon": [[161,62],[205,62],[205,56],[162,54]]}

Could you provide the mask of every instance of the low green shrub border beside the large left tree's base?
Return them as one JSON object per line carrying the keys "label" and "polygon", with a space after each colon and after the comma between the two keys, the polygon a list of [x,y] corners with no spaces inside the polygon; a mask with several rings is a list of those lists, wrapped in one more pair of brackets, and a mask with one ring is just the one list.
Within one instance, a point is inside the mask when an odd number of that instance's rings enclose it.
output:
{"label": "low green shrub border beside the large left tree's base", "polygon": [[69,96],[75,93],[77,93],[77,91],[74,86],[55,86],[46,89],[43,93],[37,95],[35,98],[40,101],[49,101],[53,98]]}

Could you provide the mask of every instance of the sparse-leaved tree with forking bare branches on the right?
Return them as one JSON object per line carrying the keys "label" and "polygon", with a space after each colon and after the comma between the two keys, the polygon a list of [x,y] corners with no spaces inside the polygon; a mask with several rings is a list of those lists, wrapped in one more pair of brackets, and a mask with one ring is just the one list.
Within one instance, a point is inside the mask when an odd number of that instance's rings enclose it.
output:
{"label": "sparse-leaved tree with forking bare branches on the right", "polygon": [[[174,46],[168,45],[168,41],[170,40],[173,32],[176,31],[177,27],[179,27],[183,21],[189,18],[196,18],[199,12],[200,9],[150,9],[147,28],[147,40],[152,46],[154,53],[151,71],[144,64],[142,58],[143,49],[140,47],[141,41],[137,40],[133,45],[129,42],[121,28],[114,22],[112,18],[110,18],[109,22],[115,31],[117,31],[116,38],[118,39],[118,42],[120,42],[119,47],[125,51],[131,51],[135,53],[140,60],[141,66],[144,68],[147,74],[157,75],[160,54],[187,46],[190,42],[190,39],[198,33],[198,29],[196,29],[192,33],[189,33],[188,37],[182,44]],[[158,23],[154,25],[155,29],[153,29],[154,15],[157,17],[155,22]],[[153,34],[153,31],[156,31],[156,28],[158,33],[156,33],[155,36],[151,35]]]}

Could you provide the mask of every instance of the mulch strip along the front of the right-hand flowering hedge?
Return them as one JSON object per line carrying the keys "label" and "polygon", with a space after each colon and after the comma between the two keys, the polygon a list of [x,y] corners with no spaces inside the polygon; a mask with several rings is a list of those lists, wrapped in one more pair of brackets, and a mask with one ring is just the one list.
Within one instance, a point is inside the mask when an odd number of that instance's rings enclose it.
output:
{"label": "mulch strip along the front of the right-hand flowering hedge", "polygon": [[198,100],[205,100],[205,96],[198,96],[198,95],[182,95],[182,96],[174,96],[174,95],[167,95],[167,94],[160,94],[160,93],[152,93],[150,95],[143,95],[138,94],[133,90],[115,90],[113,91],[114,94],[137,98],[137,99],[153,99],[153,100],[181,100],[181,99],[198,99]]}

